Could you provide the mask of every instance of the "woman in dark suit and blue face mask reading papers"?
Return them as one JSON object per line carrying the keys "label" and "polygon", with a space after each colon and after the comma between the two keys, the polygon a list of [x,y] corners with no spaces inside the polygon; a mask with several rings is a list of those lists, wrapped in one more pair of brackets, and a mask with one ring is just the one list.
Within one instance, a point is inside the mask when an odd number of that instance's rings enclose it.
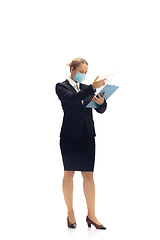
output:
{"label": "woman in dark suit and blue face mask reading papers", "polygon": [[93,100],[98,104],[96,111],[103,113],[107,108],[105,93],[96,97],[97,88],[102,87],[104,80],[98,77],[91,85],[81,82],[85,80],[88,63],[83,58],[75,58],[70,64],[70,78],[56,84],[56,93],[64,111],[60,133],[60,148],[64,165],[63,194],[68,209],[68,227],[76,228],[73,211],[73,176],[81,171],[83,189],[88,207],[86,222],[97,229],[106,229],[95,215],[95,184],[93,179],[95,161],[95,129],[92,109],[86,105]]}

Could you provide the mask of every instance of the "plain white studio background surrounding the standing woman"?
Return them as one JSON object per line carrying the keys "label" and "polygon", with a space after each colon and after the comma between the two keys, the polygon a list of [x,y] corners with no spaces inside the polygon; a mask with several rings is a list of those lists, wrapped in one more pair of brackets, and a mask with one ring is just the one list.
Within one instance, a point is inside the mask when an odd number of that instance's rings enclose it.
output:
{"label": "plain white studio background surrounding the standing woman", "polygon": [[[158,1],[0,3],[0,238],[159,239]],[[86,83],[120,70],[120,88],[96,126],[96,210],[89,231],[80,173],[78,227],[67,228],[55,84],[66,63],[89,62]]]}

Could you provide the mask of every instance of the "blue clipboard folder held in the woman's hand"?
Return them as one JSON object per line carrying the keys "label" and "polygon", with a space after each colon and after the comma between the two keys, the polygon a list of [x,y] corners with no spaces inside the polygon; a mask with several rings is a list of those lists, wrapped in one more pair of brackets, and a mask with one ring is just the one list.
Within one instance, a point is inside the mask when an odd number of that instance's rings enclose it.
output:
{"label": "blue clipboard folder held in the woman's hand", "polygon": [[[102,96],[105,92],[105,99],[107,100],[119,87],[115,85],[109,85],[107,84],[100,92],[99,94]],[[94,101],[90,101],[90,103],[86,106],[87,108],[98,108],[98,104]]]}

